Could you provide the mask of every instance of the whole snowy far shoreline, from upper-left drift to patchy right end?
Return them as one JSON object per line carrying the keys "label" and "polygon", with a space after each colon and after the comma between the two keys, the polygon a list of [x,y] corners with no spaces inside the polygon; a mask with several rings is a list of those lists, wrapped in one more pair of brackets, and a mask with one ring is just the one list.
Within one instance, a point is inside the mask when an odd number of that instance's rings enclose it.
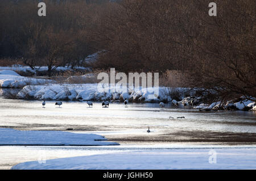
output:
{"label": "whole snowy far shoreline, from upper-left drift to patchy right end", "polygon": [[[90,75],[90,74],[89,74]],[[81,78],[90,78],[82,75]],[[69,77],[72,78],[72,77]],[[69,80],[69,78],[67,80]],[[188,88],[184,87],[123,87],[117,85],[104,85],[98,83],[69,84],[56,83],[53,80],[26,78],[12,70],[0,70],[0,87],[22,89],[18,92],[10,91],[10,95],[16,99],[32,100],[92,100],[100,102],[102,100],[129,102],[171,102],[173,96],[178,95],[181,100],[179,104],[189,105],[191,101],[196,103],[193,108],[197,110],[244,110],[256,111],[256,103],[246,98],[230,101],[227,104],[215,102],[204,104],[198,102],[198,98],[192,96]],[[1,93],[3,95],[3,92]],[[7,92],[8,94],[8,92]],[[190,94],[190,96],[188,96]],[[254,100],[256,100],[254,98]]]}

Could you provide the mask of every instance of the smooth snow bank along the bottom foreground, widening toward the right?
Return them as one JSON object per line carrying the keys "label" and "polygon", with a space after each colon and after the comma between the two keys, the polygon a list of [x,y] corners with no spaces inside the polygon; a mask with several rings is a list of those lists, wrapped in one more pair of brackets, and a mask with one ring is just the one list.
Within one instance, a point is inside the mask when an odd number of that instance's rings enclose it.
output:
{"label": "smooth snow bank along the bottom foreground, widening toward the right", "polygon": [[[127,151],[19,163],[12,169],[256,169],[256,149],[168,149]],[[216,153],[216,162],[211,159]],[[209,161],[210,160],[210,161]]]}

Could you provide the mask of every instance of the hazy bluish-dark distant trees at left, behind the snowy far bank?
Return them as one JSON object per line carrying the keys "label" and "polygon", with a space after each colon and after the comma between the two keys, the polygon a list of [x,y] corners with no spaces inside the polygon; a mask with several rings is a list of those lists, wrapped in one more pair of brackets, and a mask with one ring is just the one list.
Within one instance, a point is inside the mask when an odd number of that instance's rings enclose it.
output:
{"label": "hazy bluish-dark distant trees at left, behind the snowy far bank", "polygon": [[[88,39],[93,30],[90,1],[44,1],[47,16],[38,16],[38,1],[1,1],[1,58],[19,58],[23,64],[48,66],[50,76],[58,66],[77,63],[94,53]],[[100,1],[98,1],[100,2]]]}

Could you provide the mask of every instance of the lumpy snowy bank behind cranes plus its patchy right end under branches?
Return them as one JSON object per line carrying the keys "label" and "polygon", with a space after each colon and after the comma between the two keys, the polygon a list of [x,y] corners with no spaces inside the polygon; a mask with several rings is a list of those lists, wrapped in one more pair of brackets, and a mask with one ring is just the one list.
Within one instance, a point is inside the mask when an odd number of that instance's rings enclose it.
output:
{"label": "lumpy snowy bank behind cranes plus its patchy right end under branches", "polygon": [[[103,85],[102,85],[103,86]],[[125,100],[129,102],[171,102],[173,96],[179,95],[178,99],[181,106],[188,106],[189,104],[198,110],[256,110],[256,103],[253,100],[241,98],[241,100],[234,100],[228,103],[214,102],[212,104],[205,104],[195,96],[185,97],[188,94],[187,88],[172,88],[172,87],[151,87],[142,88],[137,87],[124,91],[122,87],[110,85],[100,87],[97,83],[87,84],[52,84],[45,86],[25,86],[17,94],[19,99],[46,99],[46,100]],[[114,91],[113,91],[114,90]],[[157,92],[157,94],[156,94]],[[192,94],[190,92],[190,94]],[[193,101],[193,103],[191,103]]]}

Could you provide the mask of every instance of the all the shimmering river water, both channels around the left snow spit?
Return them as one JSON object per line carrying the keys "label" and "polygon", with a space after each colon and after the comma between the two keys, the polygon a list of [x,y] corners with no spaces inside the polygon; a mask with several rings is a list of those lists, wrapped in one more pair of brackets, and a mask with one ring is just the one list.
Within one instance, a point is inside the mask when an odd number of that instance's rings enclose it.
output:
{"label": "all the shimmering river water, both channels around the left snow spit", "polygon": [[[171,118],[174,117],[174,118]],[[177,119],[176,117],[185,117]],[[158,103],[101,103],[0,98],[0,127],[19,130],[57,130],[101,134],[120,146],[0,146],[0,169],[38,159],[115,153],[137,149],[211,148],[256,145],[256,113],[243,111],[200,112],[190,107]],[[150,127],[150,133],[147,129]]]}

